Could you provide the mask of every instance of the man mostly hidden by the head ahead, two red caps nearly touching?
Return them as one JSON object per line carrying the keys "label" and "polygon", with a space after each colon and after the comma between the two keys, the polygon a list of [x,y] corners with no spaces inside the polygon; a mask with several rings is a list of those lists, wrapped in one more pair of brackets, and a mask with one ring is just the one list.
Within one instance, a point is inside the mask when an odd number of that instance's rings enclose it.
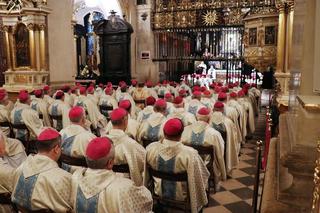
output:
{"label": "man mostly hidden by the head ahead, two red caps nearly touching", "polygon": [[[131,106],[132,105],[129,100],[122,100],[119,103],[119,108],[126,110],[128,114],[128,125],[125,129],[125,133],[132,139],[136,140],[139,129],[139,123],[131,117]],[[109,121],[107,127],[105,128],[106,133],[108,134],[111,129],[113,129],[113,124],[112,121]]]}

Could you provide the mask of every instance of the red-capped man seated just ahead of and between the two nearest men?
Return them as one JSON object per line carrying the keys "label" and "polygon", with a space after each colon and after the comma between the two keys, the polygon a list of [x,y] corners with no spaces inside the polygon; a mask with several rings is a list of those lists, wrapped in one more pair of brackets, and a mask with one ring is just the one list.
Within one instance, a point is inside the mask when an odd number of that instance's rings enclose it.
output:
{"label": "red-capped man seated just ahead of and between the two nearest men", "polygon": [[[88,143],[96,138],[86,126],[85,111],[82,107],[75,106],[69,111],[71,124],[60,131],[62,137],[62,153],[75,158],[85,157]],[[63,164],[63,168],[72,172],[71,167]]]}

